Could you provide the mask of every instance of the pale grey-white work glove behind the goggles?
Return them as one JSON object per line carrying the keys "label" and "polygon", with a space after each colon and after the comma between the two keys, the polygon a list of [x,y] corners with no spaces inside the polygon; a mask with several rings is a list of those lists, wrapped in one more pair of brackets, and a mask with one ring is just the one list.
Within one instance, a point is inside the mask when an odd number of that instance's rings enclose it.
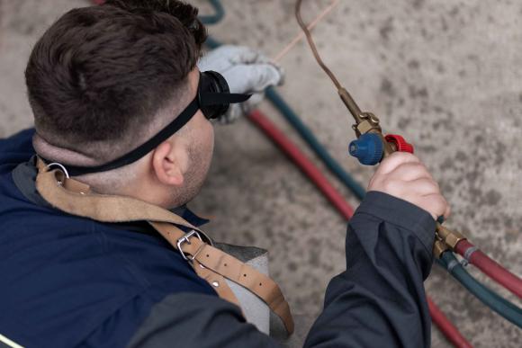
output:
{"label": "pale grey-white work glove behind the goggles", "polygon": [[283,71],[254,49],[244,46],[221,46],[205,54],[198,62],[200,71],[216,71],[229,84],[230,93],[252,94],[244,103],[230,104],[228,112],[218,119],[232,123],[260,103],[271,85],[283,84]]}

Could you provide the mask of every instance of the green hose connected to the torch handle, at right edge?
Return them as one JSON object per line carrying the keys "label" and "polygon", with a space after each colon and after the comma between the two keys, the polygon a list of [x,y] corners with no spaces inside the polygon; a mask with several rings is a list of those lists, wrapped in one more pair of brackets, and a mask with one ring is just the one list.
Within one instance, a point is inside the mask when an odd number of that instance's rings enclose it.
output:
{"label": "green hose connected to the torch handle, at right edge", "polygon": [[458,262],[453,253],[444,253],[441,259],[437,261],[447,272],[450,272],[464,288],[470,291],[473,296],[480,299],[483,304],[500,314],[500,316],[505,317],[511,323],[522,328],[522,309],[475,280],[473,276],[464,269],[463,265]]}

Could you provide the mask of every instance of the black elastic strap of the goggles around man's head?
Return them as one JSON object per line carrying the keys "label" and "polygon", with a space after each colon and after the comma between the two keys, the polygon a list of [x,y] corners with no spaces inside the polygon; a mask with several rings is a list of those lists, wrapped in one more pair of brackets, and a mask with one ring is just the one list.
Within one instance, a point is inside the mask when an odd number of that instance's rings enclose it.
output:
{"label": "black elastic strap of the goggles around man's head", "polygon": [[[139,158],[147,155],[150,151],[155,149],[159,144],[164,142],[167,138],[182,129],[183,126],[193,118],[195,113],[203,106],[229,104],[229,103],[242,103],[247,101],[250,97],[249,94],[223,94],[223,93],[209,93],[202,92],[196,95],[193,101],[181,112],[175,120],[170,122],[164,129],[161,129],[153,138],[150,138],[147,142],[136,147],[129,153],[112,160],[104,165],[96,166],[78,166],[78,165],[64,165],[67,169],[67,173],[70,176],[79,176],[84,174],[108,172],[112,169],[120,168],[124,165],[130,165],[139,160]],[[46,163],[51,163],[45,158],[42,158]]]}

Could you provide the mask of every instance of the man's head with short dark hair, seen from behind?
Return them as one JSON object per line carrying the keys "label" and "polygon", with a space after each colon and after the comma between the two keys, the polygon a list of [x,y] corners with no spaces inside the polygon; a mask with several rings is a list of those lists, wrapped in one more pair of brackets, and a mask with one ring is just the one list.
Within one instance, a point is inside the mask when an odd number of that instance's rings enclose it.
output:
{"label": "man's head with short dark hair, seen from behind", "polygon": [[[61,17],[26,70],[40,156],[102,165],[139,147],[197,93],[206,32],[178,1],[110,0]],[[80,179],[104,193],[174,206],[199,191],[213,132],[202,112],[138,162]]]}

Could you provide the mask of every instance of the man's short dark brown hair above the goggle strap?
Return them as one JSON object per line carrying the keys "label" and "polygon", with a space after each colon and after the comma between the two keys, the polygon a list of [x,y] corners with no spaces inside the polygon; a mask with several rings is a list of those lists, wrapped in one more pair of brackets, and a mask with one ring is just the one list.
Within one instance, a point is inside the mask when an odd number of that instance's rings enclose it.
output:
{"label": "man's short dark brown hair above the goggle strap", "polygon": [[201,55],[197,13],[175,0],[109,0],[64,14],[25,72],[40,137],[89,154],[88,144],[138,134],[185,87]]}

